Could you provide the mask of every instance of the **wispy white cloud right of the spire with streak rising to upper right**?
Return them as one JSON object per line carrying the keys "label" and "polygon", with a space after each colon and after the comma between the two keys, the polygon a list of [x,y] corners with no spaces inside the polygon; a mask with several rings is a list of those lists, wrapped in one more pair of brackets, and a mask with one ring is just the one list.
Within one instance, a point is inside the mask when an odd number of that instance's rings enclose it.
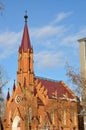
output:
{"label": "wispy white cloud right of the spire with streak rising to upper right", "polygon": [[45,25],[40,28],[31,29],[31,36],[34,38],[44,38],[63,34],[66,31],[64,25],[57,26],[55,24],[69,17],[71,14],[72,12],[62,12],[57,14],[56,18],[52,20],[48,25]]}

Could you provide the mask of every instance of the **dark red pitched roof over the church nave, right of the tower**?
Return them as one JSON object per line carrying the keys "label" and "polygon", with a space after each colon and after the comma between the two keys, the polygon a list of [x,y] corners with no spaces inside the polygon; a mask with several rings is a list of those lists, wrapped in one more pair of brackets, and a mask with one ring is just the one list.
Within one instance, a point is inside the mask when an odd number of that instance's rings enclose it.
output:
{"label": "dark red pitched roof over the church nave, right of the tower", "polygon": [[41,82],[42,86],[48,90],[49,98],[52,98],[54,96],[64,97],[66,95],[71,99],[74,99],[76,97],[63,81],[55,81],[39,77],[37,79],[38,82]]}

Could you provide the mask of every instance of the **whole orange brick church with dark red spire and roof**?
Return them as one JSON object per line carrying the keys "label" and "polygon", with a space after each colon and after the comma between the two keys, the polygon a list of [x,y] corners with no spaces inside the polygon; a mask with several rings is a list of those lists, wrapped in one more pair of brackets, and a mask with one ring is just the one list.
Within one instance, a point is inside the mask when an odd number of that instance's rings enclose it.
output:
{"label": "whole orange brick church with dark red spire and roof", "polygon": [[18,49],[17,81],[8,90],[4,130],[79,130],[78,98],[63,81],[34,74],[28,16]]}

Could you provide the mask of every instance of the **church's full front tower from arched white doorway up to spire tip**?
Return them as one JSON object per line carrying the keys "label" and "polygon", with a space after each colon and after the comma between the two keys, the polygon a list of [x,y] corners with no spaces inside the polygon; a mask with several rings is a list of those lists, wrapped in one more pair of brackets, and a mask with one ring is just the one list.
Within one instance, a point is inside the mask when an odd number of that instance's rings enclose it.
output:
{"label": "church's full front tower from arched white doorway up to spire tip", "polygon": [[[6,99],[6,130],[26,130],[30,127],[27,123],[32,118],[34,103],[34,71],[33,48],[31,46],[27,14],[24,16],[25,25],[20,47],[18,49],[17,83],[13,84],[12,95],[9,90]],[[33,104],[31,103],[33,101]],[[36,108],[35,108],[36,109]],[[36,111],[36,110],[35,110]],[[29,115],[27,113],[30,113]]]}

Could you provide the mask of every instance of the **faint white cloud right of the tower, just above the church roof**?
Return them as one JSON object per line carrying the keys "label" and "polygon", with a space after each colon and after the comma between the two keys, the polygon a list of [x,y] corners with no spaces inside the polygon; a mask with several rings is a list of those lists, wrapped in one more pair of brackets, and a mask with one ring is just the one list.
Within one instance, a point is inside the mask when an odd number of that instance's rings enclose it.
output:
{"label": "faint white cloud right of the tower, just above the church roof", "polygon": [[35,55],[35,62],[39,68],[61,67],[65,64],[63,52],[42,51]]}

